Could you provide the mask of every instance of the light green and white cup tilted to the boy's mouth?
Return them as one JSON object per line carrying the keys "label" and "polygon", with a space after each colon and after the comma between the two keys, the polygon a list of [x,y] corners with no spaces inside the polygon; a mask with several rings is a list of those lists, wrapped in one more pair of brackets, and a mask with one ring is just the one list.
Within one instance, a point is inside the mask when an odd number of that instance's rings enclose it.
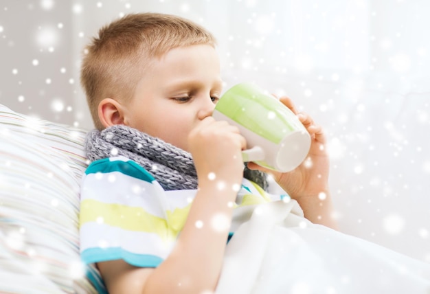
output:
{"label": "light green and white cup tilted to the boy's mouth", "polygon": [[308,155],[310,135],[297,116],[253,84],[240,83],[227,90],[212,116],[238,126],[249,148],[242,151],[244,162],[289,172]]}

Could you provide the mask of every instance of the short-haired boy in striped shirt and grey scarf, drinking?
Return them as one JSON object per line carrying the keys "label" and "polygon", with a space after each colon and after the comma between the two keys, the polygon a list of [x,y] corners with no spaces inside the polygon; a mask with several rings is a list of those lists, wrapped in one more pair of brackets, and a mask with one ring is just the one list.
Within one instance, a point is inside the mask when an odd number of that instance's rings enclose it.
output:
{"label": "short-haired boy in striped shirt and grey scarf, drinking", "polygon": [[[199,25],[150,13],[114,21],[87,47],[81,82],[99,131],[87,139],[81,253],[110,293],[214,291],[236,207],[270,200],[242,179],[238,128],[211,116],[222,91],[214,47]],[[306,218],[333,227],[324,133],[280,100],[312,137],[311,166],[271,174]]]}

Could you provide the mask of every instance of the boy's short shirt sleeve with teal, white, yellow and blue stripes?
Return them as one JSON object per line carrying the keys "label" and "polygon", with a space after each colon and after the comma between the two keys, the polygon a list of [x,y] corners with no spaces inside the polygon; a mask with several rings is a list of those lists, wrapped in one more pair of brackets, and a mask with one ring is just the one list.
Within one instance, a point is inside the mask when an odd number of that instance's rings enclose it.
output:
{"label": "boy's short shirt sleeve with teal, white, yellow and blue stripes", "polygon": [[163,196],[159,183],[134,161],[112,157],[91,163],[80,192],[84,263],[122,259],[136,267],[157,267],[176,239]]}

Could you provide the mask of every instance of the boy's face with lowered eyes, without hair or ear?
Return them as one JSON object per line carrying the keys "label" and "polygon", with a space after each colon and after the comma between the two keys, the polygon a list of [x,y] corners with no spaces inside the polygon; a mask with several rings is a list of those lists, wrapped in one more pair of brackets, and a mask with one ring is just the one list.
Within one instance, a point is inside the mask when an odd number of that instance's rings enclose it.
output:
{"label": "boy's face with lowered eyes, without hair or ear", "polygon": [[133,100],[126,106],[124,124],[189,150],[188,134],[212,115],[221,87],[214,47],[171,49],[150,62]]}

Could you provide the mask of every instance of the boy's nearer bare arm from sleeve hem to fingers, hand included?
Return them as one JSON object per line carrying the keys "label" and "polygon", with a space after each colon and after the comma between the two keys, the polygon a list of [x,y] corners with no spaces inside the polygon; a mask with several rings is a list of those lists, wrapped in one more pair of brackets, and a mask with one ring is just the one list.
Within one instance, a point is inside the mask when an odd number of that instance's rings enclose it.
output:
{"label": "boy's nearer bare arm from sleeve hem to fingers, hand included", "polygon": [[122,260],[99,262],[109,293],[213,292],[238,187],[242,181],[238,128],[207,117],[190,134],[199,188],[172,252],[159,267],[142,269]]}

